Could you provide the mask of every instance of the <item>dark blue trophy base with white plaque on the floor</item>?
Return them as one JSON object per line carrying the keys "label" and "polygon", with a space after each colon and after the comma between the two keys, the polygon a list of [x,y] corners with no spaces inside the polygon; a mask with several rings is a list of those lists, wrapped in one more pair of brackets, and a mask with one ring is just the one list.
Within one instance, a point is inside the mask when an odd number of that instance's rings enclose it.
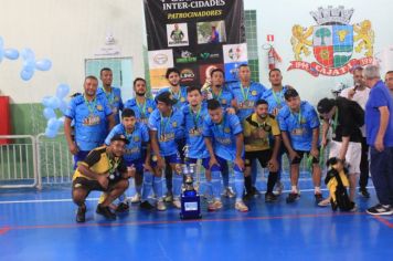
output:
{"label": "dark blue trophy base with white plaque on the floor", "polygon": [[201,219],[201,198],[195,190],[187,190],[181,195],[181,219]]}

